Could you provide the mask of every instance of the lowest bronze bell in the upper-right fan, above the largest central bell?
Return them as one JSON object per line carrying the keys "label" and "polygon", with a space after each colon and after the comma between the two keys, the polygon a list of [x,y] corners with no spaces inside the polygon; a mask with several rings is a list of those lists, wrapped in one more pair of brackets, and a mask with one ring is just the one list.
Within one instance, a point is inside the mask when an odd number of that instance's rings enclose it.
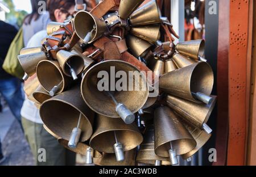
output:
{"label": "lowest bronze bell in the upper-right fan, above the largest central bell", "polygon": [[126,38],[127,47],[131,50],[133,55],[137,57],[144,57],[148,53],[151,44],[140,39],[134,35],[128,35]]}

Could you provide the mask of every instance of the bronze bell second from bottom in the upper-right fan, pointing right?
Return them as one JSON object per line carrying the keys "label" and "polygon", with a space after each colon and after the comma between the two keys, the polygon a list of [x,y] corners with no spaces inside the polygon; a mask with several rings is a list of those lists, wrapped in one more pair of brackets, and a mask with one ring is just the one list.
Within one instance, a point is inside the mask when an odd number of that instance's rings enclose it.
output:
{"label": "bronze bell second from bottom in the upper-right fan, pointing right", "polygon": [[160,24],[131,27],[131,34],[137,36],[148,43],[155,44],[160,39]]}

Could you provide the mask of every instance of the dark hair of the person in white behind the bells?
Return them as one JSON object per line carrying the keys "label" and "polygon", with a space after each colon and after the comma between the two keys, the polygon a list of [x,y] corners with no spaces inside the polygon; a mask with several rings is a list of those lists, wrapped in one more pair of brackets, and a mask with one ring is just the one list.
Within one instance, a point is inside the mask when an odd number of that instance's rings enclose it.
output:
{"label": "dark hair of the person in white behind the bells", "polygon": [[68,13],[68,10],[75,6],[75,0],[48,0],[47,1],[47,10],[49,11],[50,19],[55,22],[54,11],[60,9],[64,13]]}

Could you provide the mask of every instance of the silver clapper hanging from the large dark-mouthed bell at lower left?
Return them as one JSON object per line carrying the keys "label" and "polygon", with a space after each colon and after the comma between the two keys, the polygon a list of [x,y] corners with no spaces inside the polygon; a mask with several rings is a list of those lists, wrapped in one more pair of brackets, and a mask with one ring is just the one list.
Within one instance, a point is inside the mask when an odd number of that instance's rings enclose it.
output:
{"label": "silver clapper hanging from the large dark-mouthed bell at lower left", "polygon": [[77,127],[73,128],[71,136],[69,138],[68,147],[70,147],[71,149],[75,149],[79,142],[81,132],[82,132],[82,130],[79,128],[81,124],[81,119],[82,119],[82,113],[80,113],[79,115],[79,121],[77,123]]}

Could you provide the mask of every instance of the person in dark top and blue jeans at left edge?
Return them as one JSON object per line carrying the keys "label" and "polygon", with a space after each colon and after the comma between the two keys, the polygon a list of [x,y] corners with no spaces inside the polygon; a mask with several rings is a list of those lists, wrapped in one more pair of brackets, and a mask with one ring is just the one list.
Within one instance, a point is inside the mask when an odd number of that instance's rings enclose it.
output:
{"label": "person in dark top and blue jeans at left edge", "polygon": [[[13,113],[15,119],[18,120],[19,124],[21,125],[20,109],[23,104],[23,94],[22,90],[20,89],[21,82],[18,78],[6,73],[6,71],[2,68],[3,61],[5,60],[10,44],[17,32],[18,31],[14,26],[0,20],[0,93],[6,100],[6,103]],[[5,160],[5,157],[3,157],[2,154],[1,146],[0,140],[0,164]]]}

